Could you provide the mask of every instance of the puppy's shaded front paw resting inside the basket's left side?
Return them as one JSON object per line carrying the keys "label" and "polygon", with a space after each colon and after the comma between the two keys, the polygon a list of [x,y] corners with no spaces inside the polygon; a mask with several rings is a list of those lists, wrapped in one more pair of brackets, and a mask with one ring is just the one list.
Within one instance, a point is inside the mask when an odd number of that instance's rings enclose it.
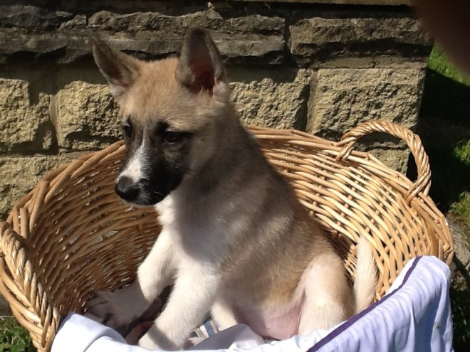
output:
{"label": "puppy's shaded front paw resting inside the basket's left side", "polygon": [[85,304],[85,316],[117,331],[127,328],[134,316],[117,292],[100,291]]}

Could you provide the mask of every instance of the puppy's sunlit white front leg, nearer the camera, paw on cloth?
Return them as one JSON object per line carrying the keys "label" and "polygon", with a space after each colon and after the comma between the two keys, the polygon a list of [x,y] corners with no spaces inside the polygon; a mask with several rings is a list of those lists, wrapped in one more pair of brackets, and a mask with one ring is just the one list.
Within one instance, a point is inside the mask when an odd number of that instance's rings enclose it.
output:
{"label": "puppy's sunlit white front leg, nearer the camera, paw on cloth", "polygon": [[166,308],[155,324],[139,341],[139,346],[177,350],[204,321],[214,303],[219,287],[219,274],[213,265],[192,262],[180,270]]}

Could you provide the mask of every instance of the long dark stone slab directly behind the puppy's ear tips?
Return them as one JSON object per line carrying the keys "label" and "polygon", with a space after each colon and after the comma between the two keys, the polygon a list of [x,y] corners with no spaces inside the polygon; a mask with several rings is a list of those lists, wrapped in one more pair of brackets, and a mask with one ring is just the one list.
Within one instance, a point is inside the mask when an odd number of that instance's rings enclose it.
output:
{"label": "long dark stone slab directly behind the puppy's ear tips", "polygon": [[187,28],[199,25],[211,31],[221,55],[231,63],[236,62],[236,58],[250,58],[251,63],[256,63],[257,59],[263,59],[263,63],[279,63],[284,56],[285,20],[280,17],[257,14],[223,18],[216,11],[198,11],[183,16],[100,11],[90,17],[88,25],[106,31],[135,33],[132,37],[115,36],[110,40],[121,50],[151,55],[177,53]]}

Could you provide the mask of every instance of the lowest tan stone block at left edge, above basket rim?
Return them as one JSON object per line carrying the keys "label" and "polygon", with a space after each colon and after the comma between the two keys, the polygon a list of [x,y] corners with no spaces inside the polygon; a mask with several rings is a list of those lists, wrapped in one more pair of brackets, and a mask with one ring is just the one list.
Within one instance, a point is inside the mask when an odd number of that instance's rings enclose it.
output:
{"label": "lowest tan stone block at left edge, above basket rim", "polygon": [[0,158],[0,219],[5,219],[19,198],[26,195],[47,171],[68,163],[72,156]]}

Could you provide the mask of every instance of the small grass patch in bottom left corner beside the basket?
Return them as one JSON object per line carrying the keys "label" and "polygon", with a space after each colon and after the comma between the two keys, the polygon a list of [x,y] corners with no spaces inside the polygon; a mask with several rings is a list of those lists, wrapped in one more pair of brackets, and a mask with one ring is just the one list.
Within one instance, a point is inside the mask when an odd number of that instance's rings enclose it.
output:
{"label": "small grass patch in bottom left corner beside the basket", "polygon": [[16,319],[0,317],[0,352],[34,352],[31,337]]}

